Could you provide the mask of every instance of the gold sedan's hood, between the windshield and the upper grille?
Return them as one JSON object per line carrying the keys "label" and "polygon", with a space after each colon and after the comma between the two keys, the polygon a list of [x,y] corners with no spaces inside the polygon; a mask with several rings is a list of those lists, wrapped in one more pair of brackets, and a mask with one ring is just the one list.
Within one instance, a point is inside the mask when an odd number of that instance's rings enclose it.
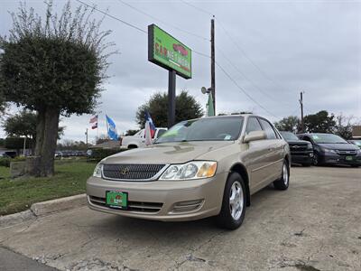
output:
{"label": "gold sedan's hood, between the windshield and the upper grille", "polygon": [[192,141],[150,145],[114,154],[104,164],[183,164],[234,141]]}

